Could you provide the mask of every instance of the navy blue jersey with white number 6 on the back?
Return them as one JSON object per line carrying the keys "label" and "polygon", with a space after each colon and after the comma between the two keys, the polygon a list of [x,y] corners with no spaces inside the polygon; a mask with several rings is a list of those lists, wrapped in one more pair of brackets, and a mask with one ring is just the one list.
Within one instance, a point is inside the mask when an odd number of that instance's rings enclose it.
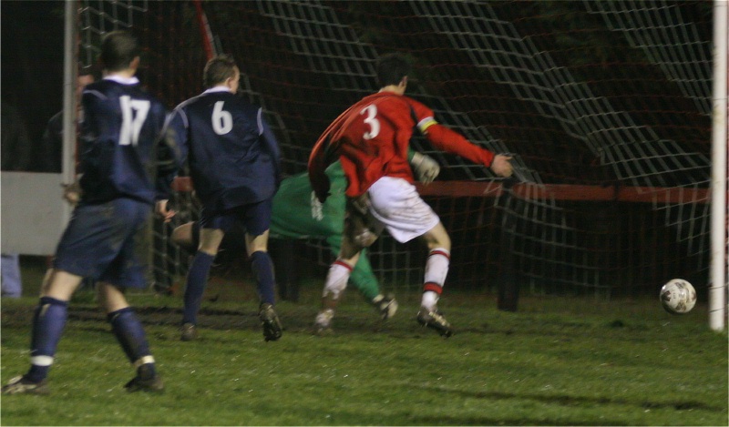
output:
{"label": "navy blue jersey with white number 6 on the back", "polygon": [[221,212],[275,194],[279,147],[260,107],[214,87],[176,107],[168,127],[204,208]]}

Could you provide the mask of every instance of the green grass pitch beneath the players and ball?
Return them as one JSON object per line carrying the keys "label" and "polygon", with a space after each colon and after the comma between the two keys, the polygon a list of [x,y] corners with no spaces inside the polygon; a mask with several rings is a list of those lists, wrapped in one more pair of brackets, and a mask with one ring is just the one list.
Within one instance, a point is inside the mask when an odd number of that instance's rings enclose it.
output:
{"label": "green grass pitch beneath the players and ball", "polygon": [[[321,286],[282,301],[264,342],[252,290],[211,283],[200,339],[180,341],[180,297],[130,296],[166,384],[129,394],[134,374],[83,295],[51,370],[49,396],[3,396],[3,425],[728,425],[727,335],[706,308],[655,300],[448,293],[444,340],[415,320],[419,296],[381,324],[348,290],[335,334],[311,330]],[[217,298],[215,297],[217,295]],[[90,300],[90,298],[89,298]],[[211,300],[215,300],[214,302]],[[35,298],[3,300],[2,381],[27,369]]]}

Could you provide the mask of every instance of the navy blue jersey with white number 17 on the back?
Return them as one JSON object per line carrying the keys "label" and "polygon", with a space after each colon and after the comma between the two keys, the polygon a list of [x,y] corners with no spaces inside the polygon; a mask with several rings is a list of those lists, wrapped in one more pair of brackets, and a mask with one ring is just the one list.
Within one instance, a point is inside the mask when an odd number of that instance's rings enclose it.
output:
{"label": "navy blue jersey with white number 17 on the back", "polygon": [[153,204],[162,198],[157,168],[165,107],[137,78],[118,76],[86,86],[82,103],[82,203],[134,198]]}

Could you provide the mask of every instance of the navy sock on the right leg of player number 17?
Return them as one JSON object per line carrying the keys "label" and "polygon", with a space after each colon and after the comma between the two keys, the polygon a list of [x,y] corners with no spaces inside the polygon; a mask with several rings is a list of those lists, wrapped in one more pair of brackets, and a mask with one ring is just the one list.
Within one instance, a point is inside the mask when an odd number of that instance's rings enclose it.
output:
{"label": "navy sock on the right leg of player number 17", "polygon": [[144,333],[139,318],[134,314],[134,310],[127,307],[112,311],[108,313],[107,320],[111,323],[111,330],[114,332],[114,336],[117,337],[122,350],[127,354],[129,361],[136,368],[145,363],[151,364],[152,370],[149,371],[148,369],[146,371],[154,375],[154,358],[152,358],[151,351],[149,351],[147,335]]}

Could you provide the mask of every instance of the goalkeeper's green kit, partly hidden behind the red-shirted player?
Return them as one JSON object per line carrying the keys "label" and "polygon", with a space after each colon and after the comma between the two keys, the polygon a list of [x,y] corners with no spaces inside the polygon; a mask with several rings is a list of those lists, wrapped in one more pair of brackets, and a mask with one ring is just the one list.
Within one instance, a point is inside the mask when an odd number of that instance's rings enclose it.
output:
{"label": "goalkeeper's green kit, partly hidden behind the red-shirted player", "polygon": [[[325,239],[334,256],[339,254],[344,232],[344,190],[347,180],[337,161],[326,169],[331,195],[321,203],[313,193],[306,172],[282,180],[273,197],[271,237],[274,239]],[[350,281],[365,299],[372,300],[379,292],[366,251],[354,266]]]}

